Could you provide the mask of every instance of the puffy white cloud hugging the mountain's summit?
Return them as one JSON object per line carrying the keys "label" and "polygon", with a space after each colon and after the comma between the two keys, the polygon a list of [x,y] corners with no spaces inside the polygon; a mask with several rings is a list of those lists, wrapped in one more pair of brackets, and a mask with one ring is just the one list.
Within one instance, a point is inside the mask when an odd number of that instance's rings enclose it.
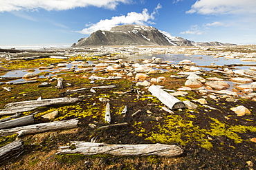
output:
{"label": "puffy white cloud hugging the mountain's summit", "polygon": [[147,9],[143,9],[143,12],[141,13],[129,12],[126,16],[121,15],[118,17],[112,17],[111,19],[100,20],[98,23],[86,24],[86,26],[89,26],[89,28],[84,28],[82,31],[76,32],[79,32],[81,34],[91,34],[92,32],[95,32],[97,30],[109,30],[109,28],[120,24],[152,24],[152,21],[150,20],[154,19],[154,16],[158,13],[158,9],[160,8],[162,8],[162,6],[161,4],[158,4],[158,6],[156,6],[151,14],[149,14]]}

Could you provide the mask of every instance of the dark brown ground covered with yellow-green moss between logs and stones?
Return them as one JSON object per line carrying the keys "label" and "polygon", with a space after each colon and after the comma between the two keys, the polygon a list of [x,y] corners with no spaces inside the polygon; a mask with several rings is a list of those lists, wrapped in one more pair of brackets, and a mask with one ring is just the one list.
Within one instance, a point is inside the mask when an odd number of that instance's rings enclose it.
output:
{"label": "dark brown ground covered with yellow-green moss between logs and stones", "polygon": [[[122,72],[122,71],[121,71]],[[26,111],[23,115],[35,114],[37,123],[47,123],[55,120],[79,118],[79,127],[59,131],[49,131],[42,134],[21,136],[25,150],[18,158],[10,158],[1,162],[0,169],[249,169],[248,161],[256,164],[255,142],[255,101],[239,99],[237,102],[227,102],[225,98],[213,100],[206,98],[208,106],[199,103],[196,109],[174,110],[174,114],[161,109],[163,103],[152,96],[145,87],[136,87],[133,78],[125,77],[120,80],[95,81],[90,83],[88,77],[92,74],[109,76],[110,73],[80,73],[66,72],[60,74],[64,84],[70,86],[57,89],[57,81],[50,87],[37,87],[46,78],[40,78],[38,83],[24,85],[8,85],[11,92],[0,88],[0,107],[7,103],[36,100],[42,98],[78,97],[82,100],[71,105],[55,105]],[[163,85],[166,89],[177,89],[185,83],[183,78],[170,78],[176,72],[150,74],[150,77],[165,76]],[[208,75],[209,76],[209,75]],[[216,76],[216,75],[214,75]],[[101,85],[116,85],[113,89],[89,89],[83,92],[64,95],[67,89],[95,87]],[[6,86],[6,85],[1,85]],[[122,94],[122,92],[129,93]],[[137,95],[137,89],[140,96]],[[106,103],[99,98],[108,98],[111,105],[111,124],[128,123],[119,127],[108,127],[104,121]],[[180,100],[203,98],[197,91],[190,91],[186,96],[177,96]],[[120,113],[128,108],[126,116]],[[244,105],[251,114],[237,116],[231,107]],[[215,109],[213,109],[213,108]],[[131,116],[138,109],[136,116]],[[51,111],[59,111],[56,118],[48,120],[42,115]],[[1,116],[6,118],[8,116]],[[91,126],[95,125],[95,127]],[[0,138],[0,147],[17,138],[17,135]],[[179,145],[184,149],[181,156],[175,158],[158,158],[156,156],[84,156],[80,154],[55,155],[58,147],[68,145],[74,140],[107,142],[109,144],[146,144],[165,143]],[[246,163],[247,162],[247,163]]]}

